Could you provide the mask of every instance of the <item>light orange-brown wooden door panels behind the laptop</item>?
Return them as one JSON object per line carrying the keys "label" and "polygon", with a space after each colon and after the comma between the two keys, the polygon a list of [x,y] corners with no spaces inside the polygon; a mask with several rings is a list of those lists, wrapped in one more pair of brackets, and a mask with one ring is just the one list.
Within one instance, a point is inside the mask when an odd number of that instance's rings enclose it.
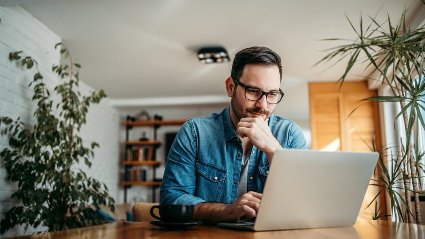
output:
{"label": "light orange-brown wooden door panels behind the laptop", "polygon": [[[370,152],[373,141],[375,147],[379,148],[381,142],[377,104],[363,101],[376,94],[376,91],[367,89],[365,81],[345,82],[341,88],[339,83],[310,83],[312,149]],[[364,209],[377,192],[377,187],[368,187],[359,218],[372,218],[375,207]],[[384,197],[380,198],[379,203],[382,203],[381,208],[385,210]]]}

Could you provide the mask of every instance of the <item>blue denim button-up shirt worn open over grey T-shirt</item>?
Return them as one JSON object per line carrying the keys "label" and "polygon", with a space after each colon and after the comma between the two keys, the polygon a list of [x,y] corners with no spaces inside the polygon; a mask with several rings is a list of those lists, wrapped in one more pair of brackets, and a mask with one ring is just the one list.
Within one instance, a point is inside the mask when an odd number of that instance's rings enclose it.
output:
{"label": "blue denim button-up shirt worn open over grey T-shirt", "polygon": [[[272,114],[268,124],[283,148],[306,148],[304,134],[293,121]],[[242,142],[233,128],[230,106],[221,113],[189,119],[168,153],[160,204],[234,202],[241,160]],[[262,193],[268,171],[266,154],[252,146],[247,190]]]}

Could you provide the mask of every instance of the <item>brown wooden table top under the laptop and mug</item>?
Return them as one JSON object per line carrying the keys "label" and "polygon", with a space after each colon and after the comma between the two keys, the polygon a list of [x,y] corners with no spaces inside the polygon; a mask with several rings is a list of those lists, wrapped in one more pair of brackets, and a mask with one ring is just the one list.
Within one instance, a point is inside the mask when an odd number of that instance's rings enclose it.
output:
{"label": "brown wooden table top under the laptop and mug", "polygon": [[101,226],[17,238],[425,238],[425,226],[381,220],[359,220],[354,227],[339,228],[253,232],[199,225],[187,231],[166,231],[149,222],[113,222]]}

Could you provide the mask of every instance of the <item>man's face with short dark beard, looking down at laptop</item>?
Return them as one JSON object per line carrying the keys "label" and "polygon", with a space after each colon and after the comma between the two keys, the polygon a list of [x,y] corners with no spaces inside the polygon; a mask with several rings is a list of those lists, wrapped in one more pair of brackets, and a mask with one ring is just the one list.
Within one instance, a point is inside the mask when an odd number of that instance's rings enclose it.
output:
{"label": "man's face with short dark beard, looking down at laptop", "polygon": [[[247,64],[243,69],[242,76],[237,80],[247,87],[257,88],[265,92],[279,91],[280,73],[276,65]],[[237,85],[233,91],[231,108],[238,120],[258,116],[266,119],[275,107],[275,104],[267,103],[266,95],[258,101],[250,101],[245,98],[245,90],[241,86]]]}

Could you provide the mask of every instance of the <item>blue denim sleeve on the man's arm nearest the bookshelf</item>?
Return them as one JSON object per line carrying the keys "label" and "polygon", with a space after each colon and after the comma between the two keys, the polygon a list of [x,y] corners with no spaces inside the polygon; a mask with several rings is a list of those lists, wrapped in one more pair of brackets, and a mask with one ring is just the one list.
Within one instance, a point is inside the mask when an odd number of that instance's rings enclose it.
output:
{"label": "blue denim sleeve on the man's arm nearest the bookshelf", "polygon": [[160,189],[160,204],[196,205],[205,202],[194,196],[197,142],[193,121],[189,119],[180,128],[168,153]]}

